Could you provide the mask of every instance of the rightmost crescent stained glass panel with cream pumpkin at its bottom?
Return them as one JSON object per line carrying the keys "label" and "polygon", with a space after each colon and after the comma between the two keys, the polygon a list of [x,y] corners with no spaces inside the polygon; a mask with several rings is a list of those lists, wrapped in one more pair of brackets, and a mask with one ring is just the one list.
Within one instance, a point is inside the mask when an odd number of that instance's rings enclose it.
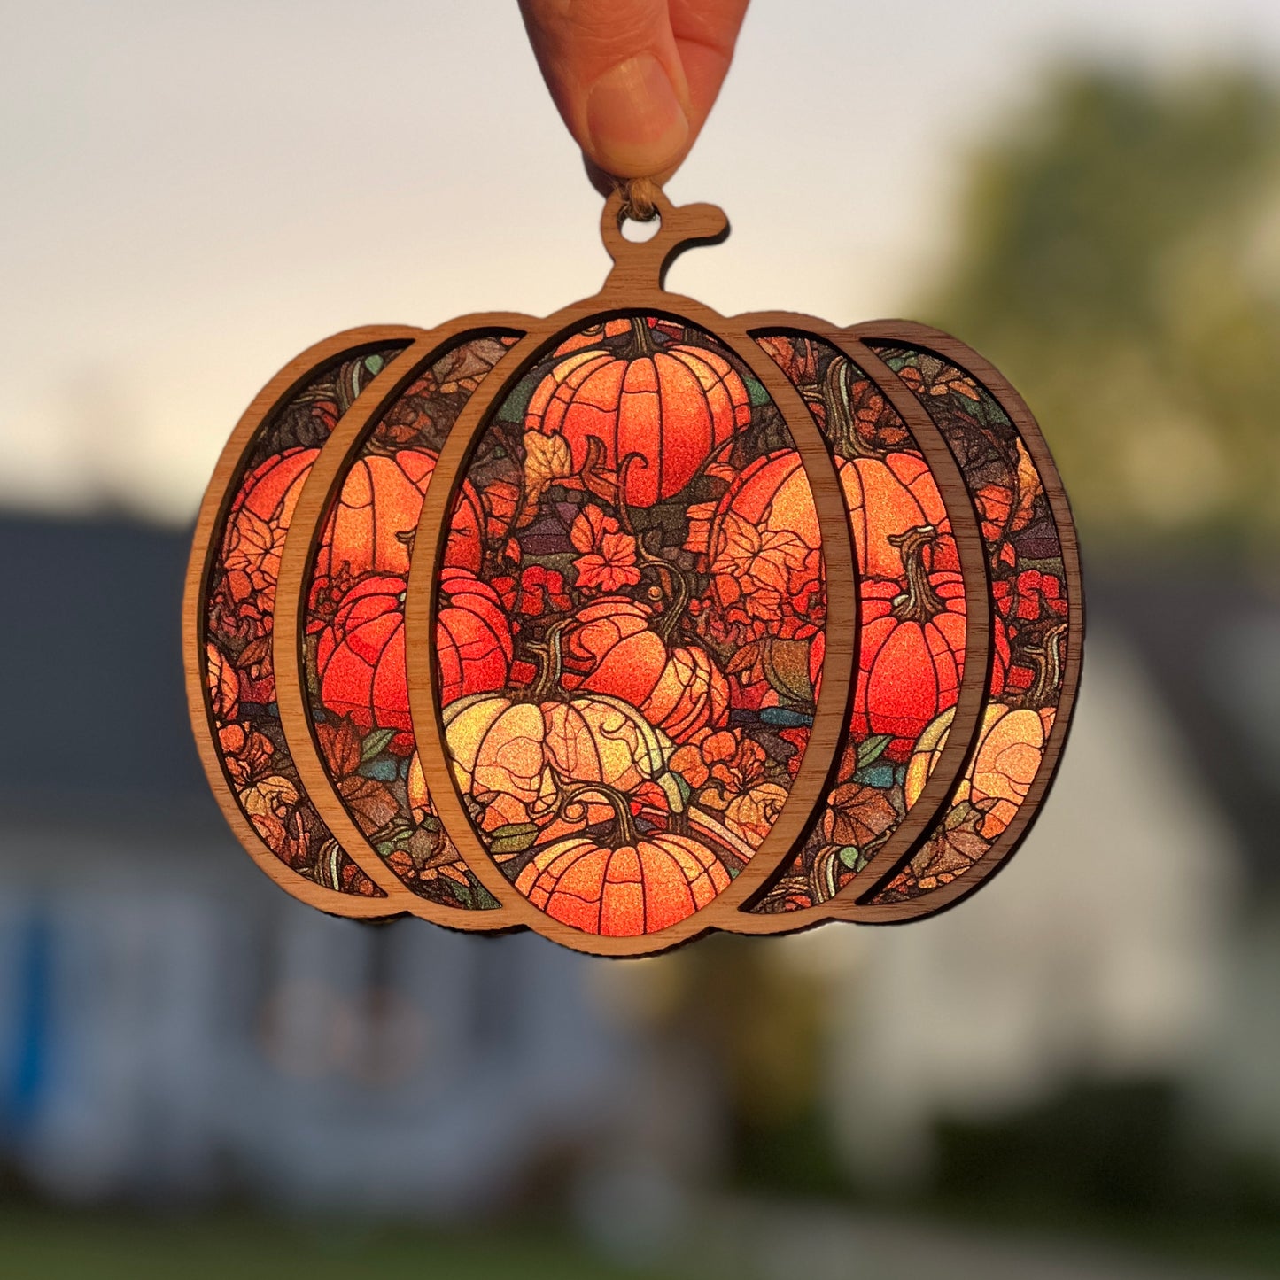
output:
{"label": "rightmost crescent stained glass panel with cream pumpkin at its bottom", "polygon": [[[942,431],[974,494],[991,570],[991,696],[978,746],[938,831],[877,896],[897,902],[941,888],[1000,841],[1038,773],[1062,694],[1068,579],[1044,481],[1009,415],[972,374],[905,344],[872,343]],[[908,763],[918,794],[950,721],[922,735]]]}

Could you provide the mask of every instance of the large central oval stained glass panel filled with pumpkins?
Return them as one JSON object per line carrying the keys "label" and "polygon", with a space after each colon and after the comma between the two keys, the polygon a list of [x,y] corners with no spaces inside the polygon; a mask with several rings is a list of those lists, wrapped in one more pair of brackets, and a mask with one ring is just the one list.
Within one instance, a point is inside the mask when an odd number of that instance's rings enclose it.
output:
{"label": "large central oval stained glass panel filled with pumpkins", "polygon": [[498,406],[438,588],[445,749],[506,878],[589,933],[710,902],[772,828],[822,673],[800,454],[710,334],[626,316]]}

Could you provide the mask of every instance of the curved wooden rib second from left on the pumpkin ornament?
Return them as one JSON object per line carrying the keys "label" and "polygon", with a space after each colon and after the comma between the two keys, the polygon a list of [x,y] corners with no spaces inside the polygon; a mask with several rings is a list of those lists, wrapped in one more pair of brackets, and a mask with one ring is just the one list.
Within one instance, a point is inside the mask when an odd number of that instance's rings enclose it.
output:
{"label": "curved wooden rib second from left on the pumpkin ornament", "polygon": [[[294,767],[320,817],[338,844],[360,869],[387,895],[396,914],[416,915],[433,924],[462,931],[495,932],[517,922],[502,906],[468,909],[445,906],[415,893],[369,842],[325,768],[315,735],[315,722],[307,694],[303,653],[303,621],[310,599],[311,571],[323,536],[323,521],[332,508],[370,431],[394,404],[445,352],[470,338],[493,333],[524,333],[535,321],[513,312],[461,316],[430,330],[419,330],[413,346],[380,372],[356,403],[338,420],[307,476],[293,509],[280,556],[276,589],[273,660],[276,699]],[[499,361],[502,364],[502,361]],[[495,366],[497,367],[497,366]],[[493,376],[492,374],[486,375]],[[472,396],[476,393],[472,392]],[[433,474],[434,479],[434,474]],[[430,485],[428,485],[430,488]],[[431,787],[430,790],[435,790]],[[448,832],[445,832],[448,836]]]}

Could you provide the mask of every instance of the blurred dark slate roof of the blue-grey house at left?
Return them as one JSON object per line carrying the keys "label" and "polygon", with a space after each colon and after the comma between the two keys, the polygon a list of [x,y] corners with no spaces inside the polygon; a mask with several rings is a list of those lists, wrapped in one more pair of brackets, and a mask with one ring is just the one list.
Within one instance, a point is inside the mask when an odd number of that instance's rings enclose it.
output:
{"label": "blurred dark slate roof of the blue-grey house at left", "polygon": [[206,804],[183,691],[189,534],[0,516],[0,794]]}

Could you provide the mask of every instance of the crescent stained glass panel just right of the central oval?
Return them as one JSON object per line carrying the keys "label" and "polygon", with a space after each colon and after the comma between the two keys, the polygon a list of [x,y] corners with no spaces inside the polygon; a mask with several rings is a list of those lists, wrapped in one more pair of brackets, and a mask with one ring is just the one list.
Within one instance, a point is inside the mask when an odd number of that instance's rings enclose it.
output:
{"label": "crescent stained glass panel just right of the central oval", "polygon": [[[818,820],[755,908],[826,902],[897,831],[919,796],[908,762],[955,708],[964,677],[965,595],[951,522],[910,428],[831,343],[799,333],[758,338],[795,384],[831,448],[859,573],[859,663],[849,732]],[[927,777],[924,772],[924,777]]]}

